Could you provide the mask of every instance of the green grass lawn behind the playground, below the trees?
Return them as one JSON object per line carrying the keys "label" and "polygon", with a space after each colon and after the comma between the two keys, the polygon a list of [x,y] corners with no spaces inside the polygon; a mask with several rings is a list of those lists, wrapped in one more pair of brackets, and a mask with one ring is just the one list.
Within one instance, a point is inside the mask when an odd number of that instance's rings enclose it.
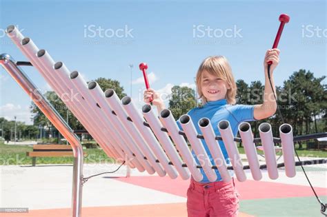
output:
{"label": "green grass lawn behind the playground, below the trees", "polygon": [[[297,149],[299,156],[327,158],[327,152]],[[32,165],[32,158],[26,156],[26,152],[32,151],[32,145],[5,145],[0,143],[0,165]],[[84,163],[113,163],[112,158],[108,158],[102,149],[83,149],[87,154]],[[244,154],[244,148],[239,147],[239,153]],[[38,157],[37,164],[72,164],[72,157]]]}

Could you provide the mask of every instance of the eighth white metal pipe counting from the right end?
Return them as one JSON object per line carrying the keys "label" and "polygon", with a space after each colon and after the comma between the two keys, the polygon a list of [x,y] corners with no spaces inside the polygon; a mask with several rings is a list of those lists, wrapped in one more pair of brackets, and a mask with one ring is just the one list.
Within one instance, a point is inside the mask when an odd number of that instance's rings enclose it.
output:
{"label": "eighth white metal pipe counting from the right end", "polygon": [[181,158],[177,153],[177,150],[175,149],[174,145],[170,141],[168,134],[166,132],[161,131],[161,127],[163,126],[160,123],[158,117],[155,116],[155,113],[152,110],[152,106],[143,105],[142,112],[144,118],[146,118],[146,121],[150,125],[155,136],[157,136],[159,142],[164,147],[166,154],[168,155],[170,161],[172,161],[173,165],[177,169],[177,172],[179,172],[181,178],[183,178],[184,180],[190,178],[190,172],[186,167],[182,167],[183,161],[181,161]]}

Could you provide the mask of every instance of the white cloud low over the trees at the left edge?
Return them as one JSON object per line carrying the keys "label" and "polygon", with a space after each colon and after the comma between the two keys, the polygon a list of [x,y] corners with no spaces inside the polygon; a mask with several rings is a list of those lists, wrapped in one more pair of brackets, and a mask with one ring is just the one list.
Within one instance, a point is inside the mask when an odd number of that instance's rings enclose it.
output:
{"label": "white cloud low over the trees at the left edge", "polygon": [[6,105],[0,106],[0,114],[8,121],[14,121],[14,116],[17,116],[17,121],[25,122],[26,124],[32,124],[30,117],[30,106],[14,105],[7,103]]}

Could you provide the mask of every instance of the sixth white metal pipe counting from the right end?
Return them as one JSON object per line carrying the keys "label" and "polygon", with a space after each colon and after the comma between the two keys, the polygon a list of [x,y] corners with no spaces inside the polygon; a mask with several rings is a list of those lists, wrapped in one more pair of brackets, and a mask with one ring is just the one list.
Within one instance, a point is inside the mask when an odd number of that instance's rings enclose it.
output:
{"label": "sixth white metal pipe counting from the right end", "polygon": [[197,159],[199,160],[202,169],[204,169],[204,173],[208,177],[208,180],[215,182],[217,180],[217,174],[215,169],[212,169],[212,163],[204,149],[204,145],[201,140],[197,138],[197,130],[195,130],[195,126],[193,125],[190,116],[188,114],[182,115],[179,118],[179,122],[181,123],[181,127],[183,128],[192,149],[197,155]]}

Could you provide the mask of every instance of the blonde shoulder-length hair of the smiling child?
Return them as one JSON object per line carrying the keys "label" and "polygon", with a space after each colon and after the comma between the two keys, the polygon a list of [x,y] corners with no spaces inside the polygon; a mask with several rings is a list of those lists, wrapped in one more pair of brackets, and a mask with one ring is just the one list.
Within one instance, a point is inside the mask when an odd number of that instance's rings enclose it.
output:
{"label": "blonde shoulder-length hair of the smiling child", "polygon": [[226,99],[228,104],[235,104],[236,100],[236,91],[237,91],[237,86],[235,83],[234,76],[232,75],[232,68],[230,68],[230,65],[226,59],[225,56],[208,56],[204,61],[202,61],[201,65],[199,66],[199,70],[197,70],[197,78],[196,78],[196,83],[197,83],[197,92],[199,94],[199,99],[202,100],[204,104],[207,103],[207,99],[204,96],[202,92],[202,86],[201,86],[201,79],[202,79],[202,74],[204,71],[209,72],[210,74],[214,76],[218,76],[220,79],[228,83],[230,86],[230,89],[227,90],[226,93]]}

